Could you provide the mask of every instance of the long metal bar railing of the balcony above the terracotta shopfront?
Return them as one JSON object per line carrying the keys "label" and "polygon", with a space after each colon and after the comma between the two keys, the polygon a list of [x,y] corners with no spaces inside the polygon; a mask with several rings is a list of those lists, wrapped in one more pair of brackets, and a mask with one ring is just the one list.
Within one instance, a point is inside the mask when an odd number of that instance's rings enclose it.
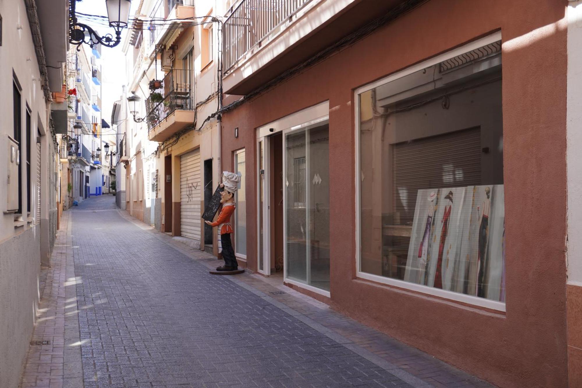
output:
{"label": "long metal bar railing of the balcony above the terracotta shopfront", "polygon": [[243,0],[222,27],[225,72],[311,0]]}

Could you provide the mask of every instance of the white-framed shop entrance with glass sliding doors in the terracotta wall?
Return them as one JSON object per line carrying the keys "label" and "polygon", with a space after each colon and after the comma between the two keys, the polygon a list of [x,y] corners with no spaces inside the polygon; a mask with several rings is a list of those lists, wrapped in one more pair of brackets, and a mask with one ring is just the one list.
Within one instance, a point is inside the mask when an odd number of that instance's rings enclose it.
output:
{"label": "white-framed shop entrance with glass sliding doors in the terracotta wall", "polygon": [[[257,264],[262,274],[282,274],[285,283],[329,297],[326,108],[308,108],[258,131]],[[306,120],[313,114],[320,116]]]}

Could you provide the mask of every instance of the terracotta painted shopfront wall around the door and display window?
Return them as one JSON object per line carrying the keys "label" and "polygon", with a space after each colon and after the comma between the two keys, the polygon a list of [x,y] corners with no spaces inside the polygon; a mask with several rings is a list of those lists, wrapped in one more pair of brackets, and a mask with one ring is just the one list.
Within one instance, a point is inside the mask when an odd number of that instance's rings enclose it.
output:
{"label": "terracotta painted shopfront wall around the door and display window", "polygon": [[[256,154],[255,128],[329,100],[332,304],[503,387],[567,386],[566,4],[431,0],[223,115],[223,165],[230,166],[233,150]],[[503,40],[507,312],[356,280],[353,90],[497,30]],[[248,160],[247,263],[256,270],[256,157]]]}

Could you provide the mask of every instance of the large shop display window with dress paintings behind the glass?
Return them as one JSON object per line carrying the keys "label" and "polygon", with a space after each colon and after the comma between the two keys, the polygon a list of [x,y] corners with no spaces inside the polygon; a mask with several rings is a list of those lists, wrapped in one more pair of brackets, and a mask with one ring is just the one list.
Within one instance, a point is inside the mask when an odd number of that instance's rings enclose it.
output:
{"label": "large shop display window with dress paintings behind the glass", "polygon": [[358,275],[505,309],[501,41],[483,43],[357,91]]}

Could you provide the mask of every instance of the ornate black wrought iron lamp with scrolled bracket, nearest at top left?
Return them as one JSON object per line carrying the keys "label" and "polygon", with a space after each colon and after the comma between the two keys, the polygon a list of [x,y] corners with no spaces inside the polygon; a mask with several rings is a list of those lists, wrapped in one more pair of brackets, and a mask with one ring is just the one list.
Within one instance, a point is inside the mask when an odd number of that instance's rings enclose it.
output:
{"label": "ornate black wrought iron lamp with scrolled bracket, nearest at top left", "polygon": [[69,0],[69,43],[77,45],[77,51],[81,49],[81,44],[83,43],[91,47],[96,44],[115,47],[121,42],[121,30],[127,27],[129,8],[132,4],[131,0],[105,0],[109,27],[113,27],[113,30],[115,30],[115,38],[113,38],[112,34],[99,36],[87,24],[79,23],[75,13],[75,3],[76,0]]}

